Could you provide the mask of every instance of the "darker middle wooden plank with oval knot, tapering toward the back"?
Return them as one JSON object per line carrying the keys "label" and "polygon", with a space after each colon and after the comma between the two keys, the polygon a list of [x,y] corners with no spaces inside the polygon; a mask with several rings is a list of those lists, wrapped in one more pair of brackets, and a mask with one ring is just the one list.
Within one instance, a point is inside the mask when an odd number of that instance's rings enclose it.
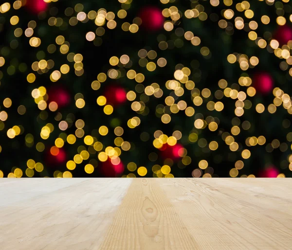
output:
{"label": "darker middle wooden plank with oval knot, tapering toward the back", "polygon": [[134,179],[101,249],[197,249],[179,211],[160,188],[164,180]]}

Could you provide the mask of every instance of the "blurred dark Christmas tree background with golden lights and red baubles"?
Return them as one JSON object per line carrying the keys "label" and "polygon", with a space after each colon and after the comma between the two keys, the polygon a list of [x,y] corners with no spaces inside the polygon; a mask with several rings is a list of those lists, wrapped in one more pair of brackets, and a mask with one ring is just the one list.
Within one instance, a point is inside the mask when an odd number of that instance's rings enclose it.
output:
{"label": "blurred dark Christmas tree background with golden lights and red baubles", "polygon": [[292,177],[289,0],[0,4],[0,177]]}

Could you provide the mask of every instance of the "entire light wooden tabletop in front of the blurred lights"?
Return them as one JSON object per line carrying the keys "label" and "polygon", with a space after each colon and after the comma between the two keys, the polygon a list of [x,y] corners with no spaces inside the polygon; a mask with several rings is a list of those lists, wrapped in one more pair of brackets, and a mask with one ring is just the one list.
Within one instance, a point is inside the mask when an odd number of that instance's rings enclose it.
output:
{"label": "entire light wooden tabletop in front of the blurred lights", "polygon": [[1,250],[291,250],[291,179],[1,179]]}

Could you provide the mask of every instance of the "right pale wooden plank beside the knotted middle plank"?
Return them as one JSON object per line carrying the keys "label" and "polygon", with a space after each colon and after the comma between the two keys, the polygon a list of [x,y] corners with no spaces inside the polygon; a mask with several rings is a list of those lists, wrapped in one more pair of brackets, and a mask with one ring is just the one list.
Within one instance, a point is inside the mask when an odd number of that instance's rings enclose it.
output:
{"label": "right pale wooden plank beside the knotted middle plank", "polygon": [[[224,188],[226,183],[232,185]],[[250,190],[238,188],[237,180],[230,179],[168,179],[162,188],[200,249],[291,249],[292,196],[286,194],[278,203],[271,200],[273,196],[254,195],[254,189],[270,183],[271,190],[280,183],[271,179],[245,183]],[[285,184],[287,190],[292,187],[291,181]]]}

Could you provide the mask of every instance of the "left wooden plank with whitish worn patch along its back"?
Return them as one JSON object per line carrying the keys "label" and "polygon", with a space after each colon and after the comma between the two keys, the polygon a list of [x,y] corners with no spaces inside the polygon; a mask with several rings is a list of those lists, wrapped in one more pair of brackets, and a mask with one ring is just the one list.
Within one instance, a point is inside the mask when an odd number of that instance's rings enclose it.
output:
{"label": "left wooden plank with whitish worn patch along its back", "polygon": [[[30,181],[37,189],[39,181]],[[71,179],[75,185],[0,206],[0,249],[98,248],[131,181],[83,179],[78,182]],[[53,182],[62,185],[62,179]],[[22,183],[19,181],[18,188],[21,189]],[[51,186],[47,185],[47,189]],[[0,196],[1,203],[2,200]]]}

